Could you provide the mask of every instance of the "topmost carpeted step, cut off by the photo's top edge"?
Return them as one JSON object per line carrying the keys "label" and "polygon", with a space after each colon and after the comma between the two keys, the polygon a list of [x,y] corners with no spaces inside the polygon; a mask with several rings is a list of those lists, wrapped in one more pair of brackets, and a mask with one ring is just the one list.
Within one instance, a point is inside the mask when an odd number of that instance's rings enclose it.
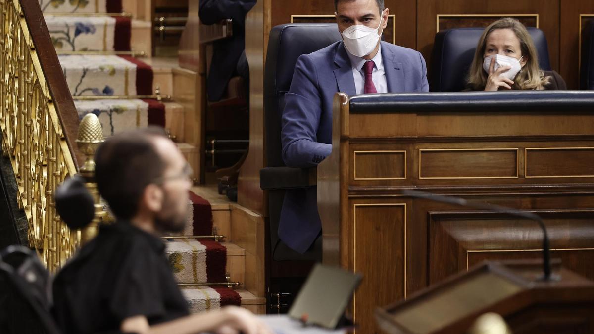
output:
{"label": "topmost carpeted step, cut off by the photo's top edge", "polygon": [[39,0],[39,6],[44,14],[122,12],[122,0]]}

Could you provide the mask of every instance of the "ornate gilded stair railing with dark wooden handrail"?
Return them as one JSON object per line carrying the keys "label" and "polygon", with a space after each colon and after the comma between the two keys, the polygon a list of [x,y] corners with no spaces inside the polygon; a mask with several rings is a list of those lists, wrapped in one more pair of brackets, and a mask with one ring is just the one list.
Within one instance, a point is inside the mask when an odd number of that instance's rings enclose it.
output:
{"label": "ornate gilded stair railing with dark wooden handrail", "polygon": [[[56,213],[56,186],[77,172],[78,116],[37,0],[0,0],[0,127],[29,220],[29,244],[49,270],[74,253],[80,233]],[[71,140],[72,139],[72,140]]]}

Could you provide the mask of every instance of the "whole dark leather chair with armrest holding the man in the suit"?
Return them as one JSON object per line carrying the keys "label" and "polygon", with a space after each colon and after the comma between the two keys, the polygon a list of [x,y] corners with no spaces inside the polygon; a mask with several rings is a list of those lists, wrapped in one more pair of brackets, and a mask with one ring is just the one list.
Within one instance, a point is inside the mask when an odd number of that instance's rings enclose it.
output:
{"label": "whole dark leather chair with armrest holding the man in the suit", "polygon": [[274,260],[318,260],[321,256],[321,238],[318,238],[312,251],[299,254],[278,237],[285,189],[309,187],[312,182],[315,184],[315,180],[311,179],[315,171],[285,166],[281,156],[280,118],[285,108],[285,93],[289,91],[299,56],[323,49],[340,39],[336,24],[282,24],[270,31],[264,68],[264,129],[268,168],[260,172],[260,187],[269,190],[270,245]]}

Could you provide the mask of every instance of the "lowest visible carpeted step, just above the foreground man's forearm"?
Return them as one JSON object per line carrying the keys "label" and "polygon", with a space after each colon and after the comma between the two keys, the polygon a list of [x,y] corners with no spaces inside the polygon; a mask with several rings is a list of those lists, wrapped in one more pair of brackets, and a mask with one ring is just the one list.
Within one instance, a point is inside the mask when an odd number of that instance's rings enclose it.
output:
{"label": "lowest visible carpeted step, just above the foreground man's forearm", "polygon": [[182,294],[188,301],[192,313],[216,310],[226,305],[241,305],[239,294],[229,288],[210,288],[207,286],[184,288]]}

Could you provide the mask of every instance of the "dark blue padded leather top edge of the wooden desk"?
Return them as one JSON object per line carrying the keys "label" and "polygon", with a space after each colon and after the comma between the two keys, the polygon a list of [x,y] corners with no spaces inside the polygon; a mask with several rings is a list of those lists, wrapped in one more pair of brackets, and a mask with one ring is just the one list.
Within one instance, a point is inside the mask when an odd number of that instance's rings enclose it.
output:
{"label": "dark blue padded leather top edge of the wooden desk", "polygon": [[588,90],[520,90],[500,92],[397,93],[350,97],[350,114],[384,112],[476,112],[522,108],[542,114],[570,109],[592,114],[594,92]]}

